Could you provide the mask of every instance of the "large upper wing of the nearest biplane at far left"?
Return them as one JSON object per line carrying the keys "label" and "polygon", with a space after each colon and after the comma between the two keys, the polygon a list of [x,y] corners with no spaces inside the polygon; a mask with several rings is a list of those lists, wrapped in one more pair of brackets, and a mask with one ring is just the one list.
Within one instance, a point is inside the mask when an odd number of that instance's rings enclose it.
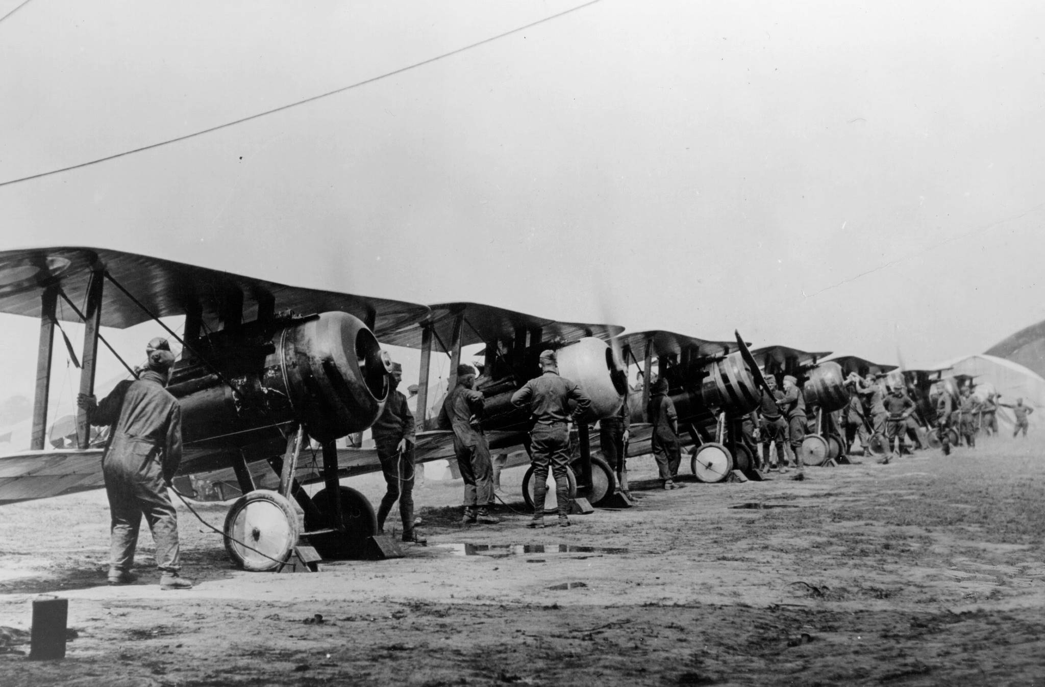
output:
{"label": "large upper wing of the nearest biplane at far left", "polygon": [[[161,258],[90,247],[0,252],[0,312],[39,317],[41,293],[55,284],[78,306],[84,303],[92,268],[104,268],[155,315],[179,315],[200,308],[203,322],[211,328],[216,327],[229,304],[240,300],[243,322],[257,317],[259,307],[298,314],[340,310],[365,322],[373,314],[378,337],[382,331],[398,329],[428,313],[423,305],[287,286]],[[68,307],[59,308],[59,318],[79,321]],[[102,327],[124,329],[148,318],[120,289],[106,283]]]}

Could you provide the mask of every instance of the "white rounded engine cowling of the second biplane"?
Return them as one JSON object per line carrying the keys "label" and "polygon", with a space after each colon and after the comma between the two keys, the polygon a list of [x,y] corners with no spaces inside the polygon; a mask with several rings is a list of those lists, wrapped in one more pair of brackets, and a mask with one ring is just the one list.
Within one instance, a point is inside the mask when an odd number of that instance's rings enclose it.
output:
{"label": "white rounded engine cowling of the second biplane", "polygon": [[627,379],[613,359],[613,351],[602,339],[588,336],[559,349],[559,374],[577,382],[591,399],[591,409],[582,419],[595,422],[621,409]]}

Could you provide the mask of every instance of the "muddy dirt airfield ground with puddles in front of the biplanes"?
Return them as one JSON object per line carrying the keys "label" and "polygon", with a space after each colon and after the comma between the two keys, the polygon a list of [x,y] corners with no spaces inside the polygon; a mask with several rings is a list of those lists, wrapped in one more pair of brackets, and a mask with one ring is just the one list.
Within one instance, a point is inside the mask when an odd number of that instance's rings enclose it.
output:
{"label": "muddy dirt airfield ground with puddles in front of the biplanes", "polygon": [[0,645],[0,685],[1041,685],[1038,441],[674,492],[642,457],[636,507],[537,531],[463,526],[460,482],[428,479],[427,547],[319,574],[233,569],[180,507],[188,592],[160,591],[147,534],[143,581],[104,585],[102,492],[2,506],[0,625],[57,594],[78,636],[59,662]]}

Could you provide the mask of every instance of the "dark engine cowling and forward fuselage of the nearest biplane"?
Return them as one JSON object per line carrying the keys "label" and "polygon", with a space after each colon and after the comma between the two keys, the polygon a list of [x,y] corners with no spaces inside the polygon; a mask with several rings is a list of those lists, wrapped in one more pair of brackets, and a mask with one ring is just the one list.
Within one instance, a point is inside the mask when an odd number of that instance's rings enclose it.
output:
{"label": "dark engine cowling and forward fuselage of the nearest biplane", "polygon": [[324,312],[259,327],[218,332],[199,345],[233,388],[200,360],[176,366],[168,390],[181,401],[186,441],[297,421],[327,442],[373,424],[388,376],[380,345],[361,319]]}

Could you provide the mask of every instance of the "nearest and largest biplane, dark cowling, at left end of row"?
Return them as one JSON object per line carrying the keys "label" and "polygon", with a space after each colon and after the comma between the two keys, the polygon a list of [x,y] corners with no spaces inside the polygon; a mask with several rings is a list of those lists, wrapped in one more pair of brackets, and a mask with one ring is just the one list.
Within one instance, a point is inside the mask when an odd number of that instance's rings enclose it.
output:
{"label": "nearest and largest biplane, dark cowling, at left end of row", "polygon": [[[180,474],[237,475],[243,495],[225,524],[233,560],[271,569],[299,535],[324,558],[359,551],[374,536],[366,498],[339,483],[347,471],[335,440],[369,427],[384,407],[388,371],[375,332],[420,322],[427,307],[107,248],[47,247],[0,253],[0,312],[41,323],[30,450],[0,458],[0,502],[103,483],[103,446],[83,411],[76,447],[44,450],[57,319],[85,324],[79,392],[93,394],[98,346],[108,346],[100,328],[184,315],[182,336],[168,329],[183,347],[167,387],[182,406]],[[297,478],[308,437],[322,446],[315,473],[324,488],[312,496]],[[275,491],[254,488],[257,463],[279,475]],[[303,531],[291,499],[304,513]]]}

